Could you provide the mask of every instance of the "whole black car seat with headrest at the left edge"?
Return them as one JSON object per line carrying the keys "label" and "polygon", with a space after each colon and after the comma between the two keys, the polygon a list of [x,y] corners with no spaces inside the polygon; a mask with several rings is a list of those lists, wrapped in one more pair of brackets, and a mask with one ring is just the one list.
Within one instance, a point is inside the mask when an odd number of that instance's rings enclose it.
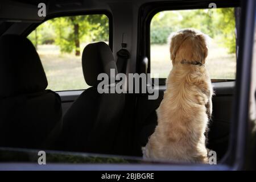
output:
{"label": "whole black car seat with headrest at the left edge", "polygon": [[35,47],[19,35],[0,37],[0,146],[51,148],[61,131],[61,101],[46,90]]}

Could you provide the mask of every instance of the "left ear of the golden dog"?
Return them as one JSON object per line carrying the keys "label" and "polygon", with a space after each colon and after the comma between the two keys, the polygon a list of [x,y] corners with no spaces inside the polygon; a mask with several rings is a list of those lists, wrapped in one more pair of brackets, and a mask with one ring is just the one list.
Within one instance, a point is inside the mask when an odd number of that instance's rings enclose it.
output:
{"label": "left ear of the golden dog", "polygon": [[184,34],[182,32],[178,32],[175,34],[172,34],[170,36],[170,53],[171,53],[171,60],[175,62],[175,57],[177,50],[179,49],[181,43],[183,42]]}

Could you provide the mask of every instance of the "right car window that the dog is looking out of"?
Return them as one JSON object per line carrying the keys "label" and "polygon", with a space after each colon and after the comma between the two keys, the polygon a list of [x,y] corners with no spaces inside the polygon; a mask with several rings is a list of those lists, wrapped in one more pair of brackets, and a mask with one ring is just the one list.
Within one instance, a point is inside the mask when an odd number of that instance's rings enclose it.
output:
{"label": "right car window that the dog is looking out of", "polygon": [[212,79],[234,80],[236,77],[235,9],[196,9],[160,11],[150,24],[151,76],[167,78],[172,68],[168,36],[181,28],[193,27],[209,39],[207,67]]}

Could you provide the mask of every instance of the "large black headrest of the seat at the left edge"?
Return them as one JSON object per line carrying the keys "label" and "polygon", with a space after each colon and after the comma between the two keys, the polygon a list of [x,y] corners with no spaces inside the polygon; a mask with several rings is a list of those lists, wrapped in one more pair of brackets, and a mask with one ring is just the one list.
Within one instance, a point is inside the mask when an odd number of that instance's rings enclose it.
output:
{"label": "large black headrest of the seat at the left edge", "polygon": [[48,83],[35,47],[19,35],[0,37],[0,97],[40,92]]}

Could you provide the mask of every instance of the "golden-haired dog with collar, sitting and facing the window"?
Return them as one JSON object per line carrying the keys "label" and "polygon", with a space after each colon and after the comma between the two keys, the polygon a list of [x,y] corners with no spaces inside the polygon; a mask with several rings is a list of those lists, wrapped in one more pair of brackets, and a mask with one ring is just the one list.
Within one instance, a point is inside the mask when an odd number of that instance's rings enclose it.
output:
{"label": "golden-haired dog with collar, sitting and facing the window", "polygon": [[212,114],[213,88],[204,66],[207,38],[192,28],[171,36],[173,68],[156,110],[158,125],[142,148],[144,159],[208,163],[204,134]]}

